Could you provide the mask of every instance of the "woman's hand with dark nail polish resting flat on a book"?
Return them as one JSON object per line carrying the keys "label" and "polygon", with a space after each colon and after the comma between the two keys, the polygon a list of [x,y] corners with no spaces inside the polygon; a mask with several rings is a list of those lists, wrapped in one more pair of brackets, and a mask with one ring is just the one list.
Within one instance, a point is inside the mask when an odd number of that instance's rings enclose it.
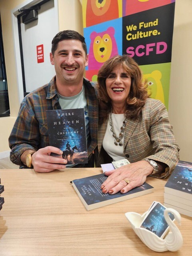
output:
{"label": "woman's hand with dark nail polish resting flat on a book", "polygon": [[129,190],[143,185],[146,177],[152,172],[153,167],[145,160],[105,172],[105,175],[109,177],[101,185],[102,192],[105,194],[115,194],[119,191],[123,194],[127,193]]}

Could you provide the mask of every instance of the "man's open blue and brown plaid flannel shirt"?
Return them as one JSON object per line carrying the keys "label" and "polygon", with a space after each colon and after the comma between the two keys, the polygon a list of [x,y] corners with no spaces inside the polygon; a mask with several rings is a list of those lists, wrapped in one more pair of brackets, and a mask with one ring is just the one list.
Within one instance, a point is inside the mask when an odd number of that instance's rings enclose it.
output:
{"label": "man's open blue and brown plaid flannel shirt", "polygon": [[[49,146],[46,110],[61,109],[55,88],[56,78],[30,92],[20,105],[18,117],[9,137],[10,160],[23,166],[20,156],[26,150],[38,150]],[[83,78],[85,97],[89,112],[90,143],[87,145],[88,159],[97,146],[98,103],[94,86]]]}

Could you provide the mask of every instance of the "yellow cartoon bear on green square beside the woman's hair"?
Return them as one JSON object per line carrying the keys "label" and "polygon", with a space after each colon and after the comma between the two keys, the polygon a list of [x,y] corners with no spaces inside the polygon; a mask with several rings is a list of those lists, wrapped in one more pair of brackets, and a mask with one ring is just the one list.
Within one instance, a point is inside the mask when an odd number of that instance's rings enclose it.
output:
{"label": "yellow cartoon bear on green square beside the woman's hair", "polygon": [[159,70],[154,70],[150,74],[144,74],[143,78],[148,82],[148,94],[151,98],[160,100],[164,104],[164,92],[161,83],[162,74]]}

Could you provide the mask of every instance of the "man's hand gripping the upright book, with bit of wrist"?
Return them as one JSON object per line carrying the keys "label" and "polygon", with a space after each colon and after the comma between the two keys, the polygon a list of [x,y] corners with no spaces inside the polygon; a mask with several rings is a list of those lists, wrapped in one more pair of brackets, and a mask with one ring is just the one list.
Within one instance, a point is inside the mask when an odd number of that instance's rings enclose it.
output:
{"label": "man's hand gripping the upright book, with bit of wrist", "polygon": [[[60,156],[50,156],[51,153],[55,153]],[[32,154],[32,166],[36,172],[51,172],[56,169],[65,169],[65,164],[67,164],[67,160],[62,158],[62,154],[63,152],[59,148],[55,148],[52,146],[40,148],[37,152]],[[25,160],[23,159],[25,155],[26,154],[22,154],[21,156],[21,160],[24,163]]]}

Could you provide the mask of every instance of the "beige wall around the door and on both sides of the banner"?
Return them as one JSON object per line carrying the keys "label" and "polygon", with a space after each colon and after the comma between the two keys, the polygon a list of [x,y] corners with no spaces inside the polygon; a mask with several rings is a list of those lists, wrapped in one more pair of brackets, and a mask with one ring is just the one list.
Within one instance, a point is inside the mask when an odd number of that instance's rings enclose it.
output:
{"label": "beige wall around the door and on both sides of the banner", "polygon": [[[0,152],[9,150],[8,136],[18,113],[14,42],[11,10],[24,0],[0,0],[6,72],[10,98],[10,118],[0,118]],[[59,30],[73,29],[83,34],[81,0],[58,0]],[[63,12],[63,10],[67,10]],[[172,65],[169,96],[169,117],[176,140],[180,145],[180,159],[192,162],[192,1],[176,0]]]}

